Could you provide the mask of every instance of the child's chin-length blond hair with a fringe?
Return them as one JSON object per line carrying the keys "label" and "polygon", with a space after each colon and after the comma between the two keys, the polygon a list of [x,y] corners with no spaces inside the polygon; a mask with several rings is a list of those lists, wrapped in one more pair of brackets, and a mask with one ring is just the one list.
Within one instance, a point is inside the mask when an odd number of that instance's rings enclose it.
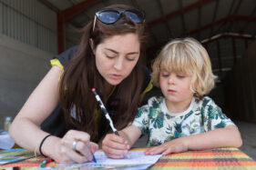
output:
{"label": "child's chin-length blond hair with a fringe", "polygon": [[190,89],[202,97],[214,87],[210,57],[206,49],[194,38],[187,37],[170,41],[155,59],[151,74],[153,84],[159,86],[160,70],[191,75]]}

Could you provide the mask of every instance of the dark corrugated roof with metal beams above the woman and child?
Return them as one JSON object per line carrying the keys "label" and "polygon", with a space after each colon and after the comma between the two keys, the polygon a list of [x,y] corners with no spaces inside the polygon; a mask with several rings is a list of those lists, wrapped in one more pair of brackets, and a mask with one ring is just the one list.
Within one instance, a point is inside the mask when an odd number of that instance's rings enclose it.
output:
{"label": "dark corrugated roof with metal beams above the woman and child", "polygon": [[[214,35],[236,33],[256,34],[255,0],[40,0],[60,11],[67,11],[76,5],[84,5],[83,12],[67,21],[67,39],[74,44],[79,36],[75,29],[92,18],[95,12],[107,5],[126,4],[146,12],[148,48],[165,44],[170,38],[189,35],[200,41]],[[85,5],[87,2],[87,6]],[[73,32],[72,32],[73,30]],[[70,34],[72,33],[72,34]]]}

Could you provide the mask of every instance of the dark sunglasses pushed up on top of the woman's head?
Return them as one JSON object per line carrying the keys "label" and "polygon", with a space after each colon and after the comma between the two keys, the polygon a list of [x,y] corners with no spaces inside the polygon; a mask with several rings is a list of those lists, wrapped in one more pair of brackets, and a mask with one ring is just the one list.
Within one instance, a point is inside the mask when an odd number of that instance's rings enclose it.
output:
{"label": "dark sunglasses pushed up on top of the woman's head", "polygon": [[113,24],[118,21],[120,16],[127,15],[135,23],[143,23],[145,21],[145,13],[138,9],[132,8],[127,10],[120,9],[103,9],[96,13],[97,19],[104,24]]}

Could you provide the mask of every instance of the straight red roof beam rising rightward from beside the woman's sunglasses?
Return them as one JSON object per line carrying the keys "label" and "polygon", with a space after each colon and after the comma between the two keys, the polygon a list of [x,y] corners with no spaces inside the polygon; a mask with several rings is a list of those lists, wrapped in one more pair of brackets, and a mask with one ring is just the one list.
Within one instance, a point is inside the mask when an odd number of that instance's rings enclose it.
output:
{"label": "straight red roof beam rising rightward from beside the woman's sunglasses", "polygon": [[183,8],[181,8],[181,9],[179,9],[179,10],[173,12],[173,13],[169,13],[168,15],[164,15],[164,16],[160,17],[159,19],[148,22],[148,26],[156,25],[156,24],[159,24],[159,23],[161,23],[161,22],[163,22],[163,21],[165,21],[165,20],[167,20],[171,17],[184,14],[184,13],[188,12],[189,10],[192,10],[194,8],[197,8],[197,7],[201,6],[201,5],[205,5],[207,3],[210,3],[210,1],[212,1],[212,0],[200,0],[197,3],[194,3],[192,5],[188,5],[188,6],[183,7]]}

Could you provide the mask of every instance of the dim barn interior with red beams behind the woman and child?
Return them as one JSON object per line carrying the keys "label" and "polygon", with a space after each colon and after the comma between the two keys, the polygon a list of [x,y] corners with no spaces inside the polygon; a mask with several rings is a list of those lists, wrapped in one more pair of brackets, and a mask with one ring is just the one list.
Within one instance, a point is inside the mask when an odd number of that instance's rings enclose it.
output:
{"label": "dim barn interior with red beams behind the woman and child", "polygon": [[[238,125],[241,150],[256,160],[255,0],[0,0],[0,127],[46,75],[49,60],[78,45],[78,30],[112,4],[145,11],[149,69],[173,38],[204,45],[218,75],[210,97]],[[159,93],[154,87],[145,100]],[[144,143],[142,137],[136,145]]]}

